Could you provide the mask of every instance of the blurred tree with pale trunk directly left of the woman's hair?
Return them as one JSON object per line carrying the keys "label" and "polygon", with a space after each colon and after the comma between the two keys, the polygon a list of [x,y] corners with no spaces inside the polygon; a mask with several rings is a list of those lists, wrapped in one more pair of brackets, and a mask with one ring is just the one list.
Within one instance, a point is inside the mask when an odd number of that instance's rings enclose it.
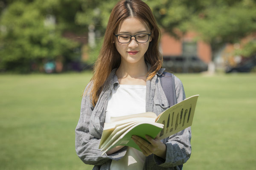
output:
{"label": "blurred tree with pale trunk directly left of the woman's hair", "polygon": [[76,13],[76,23],[88,32],[89,60],[94,63],[102,45],[110,13],[117,0],[80,0],[81,11]]}

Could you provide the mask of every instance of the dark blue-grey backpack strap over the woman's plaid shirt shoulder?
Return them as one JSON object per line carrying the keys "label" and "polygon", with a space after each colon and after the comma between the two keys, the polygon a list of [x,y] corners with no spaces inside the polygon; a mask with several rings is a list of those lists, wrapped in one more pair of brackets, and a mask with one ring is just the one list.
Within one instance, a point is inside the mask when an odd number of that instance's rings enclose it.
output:
{"label": "dark blue-grey backpack strap over the woman's plaid shirt shoulder", "polygon": [[[160,83],[163,88],[163,92],[166,95],[168,100],[169,106],[175,105],[177,102],[176,99],[176,91],[175,91],[175,82],[174,82],[174,75],[169,72],[163,72],[160,76]],[[183,164],[178,166],[180,170],[183,168]]]}

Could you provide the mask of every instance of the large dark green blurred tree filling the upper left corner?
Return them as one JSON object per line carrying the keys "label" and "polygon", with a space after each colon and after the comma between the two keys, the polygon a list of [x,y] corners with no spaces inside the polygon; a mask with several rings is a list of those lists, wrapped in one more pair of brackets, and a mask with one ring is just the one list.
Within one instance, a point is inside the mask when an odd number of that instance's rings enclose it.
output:
{"label": "large dark green blurred tree filling the upper left corner", "polygon": [[65,30],[76,28],[74,16],[79,6],[72,4],[71,0],[7,3],[0,18],[0,69],[29,72],[32,63],[72,57],[79,44],[62,36]]}

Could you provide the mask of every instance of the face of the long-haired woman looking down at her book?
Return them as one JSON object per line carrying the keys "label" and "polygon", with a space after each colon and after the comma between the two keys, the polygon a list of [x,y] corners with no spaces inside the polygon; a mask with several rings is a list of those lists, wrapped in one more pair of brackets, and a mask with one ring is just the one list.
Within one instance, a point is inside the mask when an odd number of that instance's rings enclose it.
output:
{"label": "face of the long-haired woman looking down at her book", "polygon": [[[143,23],[134,17],[130,17],[123,20],[120,23],[117,30],[115,31],[115,34],[130,34],[130,35],[136,35],[136,34],[145,35],[150,33],[151,33],[150,29],[148,28],[146,23]],[[145,35],[145,36],[148,36],[148,35]],[[138,37],[137,40],[139,40],[139,38],[140,37]],[[130,42],[120,43],[115,37],[115,45],[116,45],[117,51],[121,55],[121,62],[125,62],[127,64],[144,62],[144,54],[148,50],[148,45],[151,40],[152,40],[151,37],[149,37],[149,40],[147,42],[140,43],[135,40],[135,37],[131,37]]]}

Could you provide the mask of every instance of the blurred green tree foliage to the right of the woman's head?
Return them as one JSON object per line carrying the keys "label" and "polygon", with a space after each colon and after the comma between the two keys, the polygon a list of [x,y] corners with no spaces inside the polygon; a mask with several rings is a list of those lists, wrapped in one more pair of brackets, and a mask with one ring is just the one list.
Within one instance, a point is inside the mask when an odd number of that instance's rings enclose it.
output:
{"label": "blurred green tree foliage to the right of the woman's head", "polygon": [[211,45],[213,58],[226,43],[239,42],[256,32],[254,0],[162,0],[148,3],[165,31],[175,37],[179,34],[174,28],[183,33],[196,31],[198,39]]}

